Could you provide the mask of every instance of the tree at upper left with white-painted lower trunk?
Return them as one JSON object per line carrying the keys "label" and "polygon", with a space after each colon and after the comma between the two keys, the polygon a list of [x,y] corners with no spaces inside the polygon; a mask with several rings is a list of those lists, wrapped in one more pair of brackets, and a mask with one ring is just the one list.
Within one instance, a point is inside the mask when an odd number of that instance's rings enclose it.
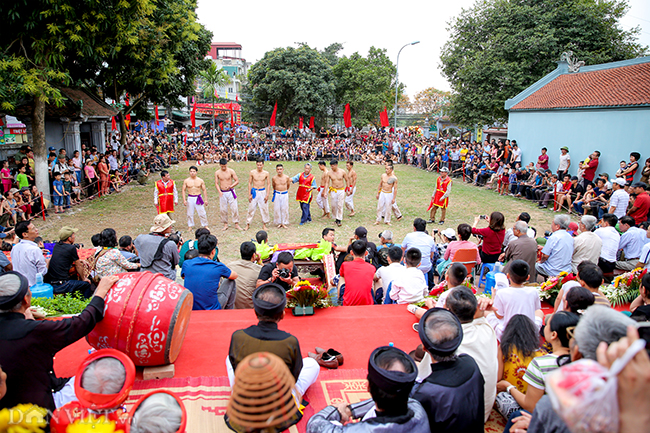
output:
{"label": "tree at upper left with white-painted lower trunk", "polygon": [[[69,64],[98,63],[131,43],[134,21],[152,12],[149,0],[13,0],[0,2],[0,95],[2,109],[32,104],[36,184],[49,190],[45,105],[61,104],[58,86],[72,82]],[[4,99],[4,98],[3,98]]]}

